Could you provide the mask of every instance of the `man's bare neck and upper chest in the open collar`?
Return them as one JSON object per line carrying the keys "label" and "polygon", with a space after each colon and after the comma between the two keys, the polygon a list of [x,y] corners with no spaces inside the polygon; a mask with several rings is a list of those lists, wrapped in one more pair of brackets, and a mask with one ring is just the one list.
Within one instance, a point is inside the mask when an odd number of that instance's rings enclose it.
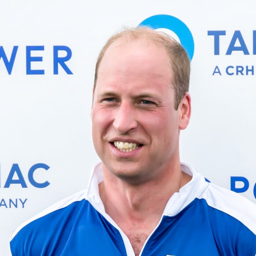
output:
{"label": "man's bare neck and upper chest in the open collar", "polygon": [[99,192],[106,213],[129,238],[136,255],[158,225],[169,198],[191,177],[176,169],[143,184],[129,184],[103,168]]}

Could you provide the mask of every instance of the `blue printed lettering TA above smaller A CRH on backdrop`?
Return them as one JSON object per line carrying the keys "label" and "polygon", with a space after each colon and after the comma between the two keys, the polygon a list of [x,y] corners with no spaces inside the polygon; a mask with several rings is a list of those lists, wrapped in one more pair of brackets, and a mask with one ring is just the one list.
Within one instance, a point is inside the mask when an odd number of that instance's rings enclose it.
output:
{"label": "blue printed lettering TA above smaller A CRH on backdrop", "polygon": [[[213,53],[215,56],[237,56],[237,59],[241,61],[241,57],[247,63],[251,60],[255,62],[255,57],[250,58],[252,55],[256,55],[256,30],[252,30],[250,35],[251,41],[246,41],[245,36],[241,30],[234,30],[231,34],[226,30],[208,30],[207,35],[212,38]],[[229,43],[225,44],[224,40],[228,38]],[[249,47],[252,42],[252,47]],[[217,64],[213,70],[212,75],[254,75],[254,65],[252,64],[237,64],[230,63],[227,66],[223,66],[221,63]]]}

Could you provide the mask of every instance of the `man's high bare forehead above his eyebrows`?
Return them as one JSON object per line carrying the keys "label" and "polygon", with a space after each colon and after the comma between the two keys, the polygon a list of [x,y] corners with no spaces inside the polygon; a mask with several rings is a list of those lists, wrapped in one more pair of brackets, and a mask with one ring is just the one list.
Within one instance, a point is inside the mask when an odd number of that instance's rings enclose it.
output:
{"label": "man's high bare forehead above his eyebrows", "polygon": [[[98,68],[97,84],[172,83],[172,71],[166,52],[143,41],[113,42]],[[166,82],[167,81],[167,82]]]}

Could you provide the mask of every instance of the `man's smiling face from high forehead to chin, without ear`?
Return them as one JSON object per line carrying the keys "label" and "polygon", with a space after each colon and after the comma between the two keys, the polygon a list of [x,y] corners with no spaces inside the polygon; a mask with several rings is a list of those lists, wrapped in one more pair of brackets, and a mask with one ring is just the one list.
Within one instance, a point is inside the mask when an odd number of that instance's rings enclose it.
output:
{"label": "man's smiling face from high forehead to chin, without ear", "polygon": [[91,110],[103,169],[134,184],[156,179],[179,161],[180,112],[174,110],[165,49],[116,41],[98,69]]}

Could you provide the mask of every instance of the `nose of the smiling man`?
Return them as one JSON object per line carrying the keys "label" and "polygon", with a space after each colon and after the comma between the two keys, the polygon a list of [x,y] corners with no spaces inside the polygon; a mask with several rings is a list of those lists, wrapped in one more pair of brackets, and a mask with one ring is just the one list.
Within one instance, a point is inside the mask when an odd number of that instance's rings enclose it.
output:
{"label": "nose of the smiling man", "polygon": [[135,119],[135,109],[127,102],[121,103],[114,115],[113,126],[119,133],[127,133],[138,126]]}

